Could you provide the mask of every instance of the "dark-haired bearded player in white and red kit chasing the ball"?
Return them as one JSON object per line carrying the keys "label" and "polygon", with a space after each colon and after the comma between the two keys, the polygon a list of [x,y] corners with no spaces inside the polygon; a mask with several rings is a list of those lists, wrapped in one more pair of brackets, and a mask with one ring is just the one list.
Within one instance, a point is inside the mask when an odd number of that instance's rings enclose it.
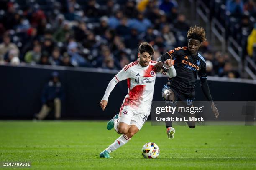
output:
{"label": "dark-haired bearded player in white and red kit chasing the ball", "polygon": [[[147,42],[141,43],[138,59],[126,65],[108,84],[100,101],[100,107],[103,111],[108,104],[110,92],[118,82],[127,80],[128,94],[123,100],[119,115],[115,115],[107,124],[108,130],[115,128],[115,131],[122,135],[103,150],[100,153],[100,157],[111,158],[109,153],[127,143],[146,122],[150,114],[156,80],[154,65],[157,62],[151,60],[153,54],[154,49],[150,44]],[[166,60],[165,64],[168,68],[162,69],[160,72],[164,75],[168,74],[169,77],[175,77],[176,71],[173,67],[173,60]]]}

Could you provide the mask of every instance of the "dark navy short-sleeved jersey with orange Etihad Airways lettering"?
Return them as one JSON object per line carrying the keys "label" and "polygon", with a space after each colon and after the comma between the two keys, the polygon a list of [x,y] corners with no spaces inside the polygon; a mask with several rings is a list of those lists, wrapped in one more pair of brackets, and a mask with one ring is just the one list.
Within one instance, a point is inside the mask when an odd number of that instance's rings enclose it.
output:
{"label": "dark navy short-sleeved jersey with orange Etihad Airways lettering", "polygon": [[[205,59],[197,53],[193,56],[189,54],[187,47],[177,47],[174,50],[161,55],[157,61],[174,60],[176,77],[170,79],[170,87],[181,94],[194,94],[194,86],[197,76],[200,79],[207,79]],[[192,97],[192,96],[191,96]]]}

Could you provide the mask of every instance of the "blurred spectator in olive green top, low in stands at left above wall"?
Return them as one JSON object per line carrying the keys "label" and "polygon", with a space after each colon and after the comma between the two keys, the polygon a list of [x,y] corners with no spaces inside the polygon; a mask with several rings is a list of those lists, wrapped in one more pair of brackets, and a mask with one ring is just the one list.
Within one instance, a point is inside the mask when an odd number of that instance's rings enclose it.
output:
{"label": "blurred spectator in olive green top, low in stands at left above wall", "polygon": [[28,51],[25,55],[25,62],[27,63],[37,63],[41,58],[41,45],[36,44],[32,51]]}

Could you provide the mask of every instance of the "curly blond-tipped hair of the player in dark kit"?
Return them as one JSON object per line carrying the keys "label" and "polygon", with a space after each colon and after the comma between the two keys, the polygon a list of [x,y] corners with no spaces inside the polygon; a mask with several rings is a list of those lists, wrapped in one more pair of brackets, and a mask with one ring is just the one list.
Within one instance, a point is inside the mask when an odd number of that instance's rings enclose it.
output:
{"label": "curly blond-tipped hair of the player in dark kit", "polygon": [[189,30],[187,31],[187,39],[191,38],[199,40],[200,42],[206,41],[205,30],[199,26],[190,27]]}

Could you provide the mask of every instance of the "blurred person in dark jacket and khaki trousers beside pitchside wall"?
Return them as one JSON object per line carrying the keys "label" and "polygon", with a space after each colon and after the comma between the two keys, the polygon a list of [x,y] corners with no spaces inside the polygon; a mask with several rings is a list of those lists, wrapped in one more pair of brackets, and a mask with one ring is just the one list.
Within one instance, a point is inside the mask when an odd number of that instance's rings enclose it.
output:
{"label": "blurred person in dark jacket and khaki trousers beside pitchside wall", "polygon": [[64,91],[59,80],[59,73],[53,72],[51,80],[44,87],[42,92],[43,106],[35,118],[43,120],[48,113],[54,109],[54,117],[56,120],[61,118],[61,100],[64,98]]}

